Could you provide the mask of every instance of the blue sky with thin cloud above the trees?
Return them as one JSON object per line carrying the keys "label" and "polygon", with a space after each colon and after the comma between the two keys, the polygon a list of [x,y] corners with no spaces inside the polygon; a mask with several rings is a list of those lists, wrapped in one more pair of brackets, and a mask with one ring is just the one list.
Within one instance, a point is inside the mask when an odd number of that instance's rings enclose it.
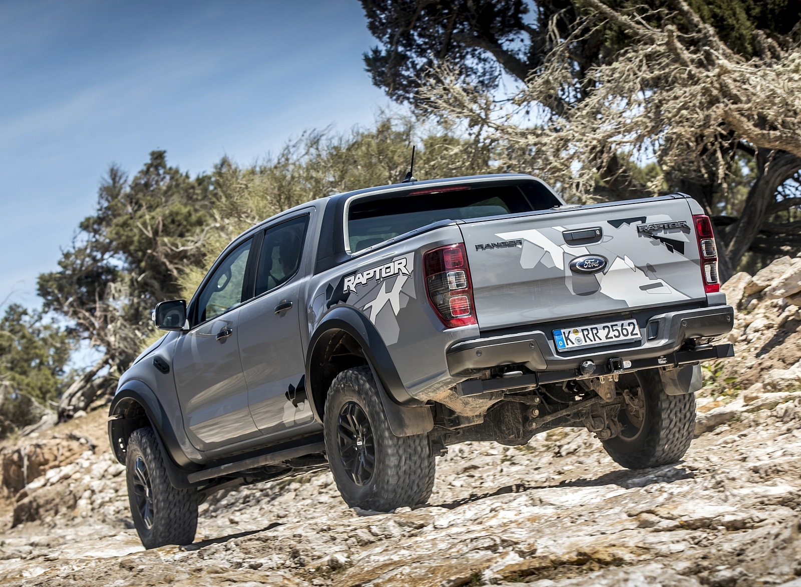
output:
{"label": "blue sky with thin cloud above the trees", "polygon": [[112,162],[195,175],[371,125],[374,44],[356,0],[0,0],[0,301],[39,304]]}

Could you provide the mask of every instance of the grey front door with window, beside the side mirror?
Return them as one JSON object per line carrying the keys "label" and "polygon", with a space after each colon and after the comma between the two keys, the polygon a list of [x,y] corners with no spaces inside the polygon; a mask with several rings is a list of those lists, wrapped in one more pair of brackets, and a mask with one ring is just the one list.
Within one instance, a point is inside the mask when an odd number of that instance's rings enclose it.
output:
{"label": "grey front door with window, beside the side mirror", "polygon": [[252,239],[215,267],[191,309],[192,329],[177,341],[173,371],[187,436],[211,450],[260,434],[248,409],[239,361],[239,307],[252,291]]}

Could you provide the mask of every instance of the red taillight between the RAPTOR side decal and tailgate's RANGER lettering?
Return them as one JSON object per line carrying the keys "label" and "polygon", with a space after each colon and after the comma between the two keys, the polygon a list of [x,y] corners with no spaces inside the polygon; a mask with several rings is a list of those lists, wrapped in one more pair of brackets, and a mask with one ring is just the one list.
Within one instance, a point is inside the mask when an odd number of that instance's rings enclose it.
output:
{"label": "red taillight between the RAPTOR side decal and tailgate's RANGER lettering", "polygon": [[465,245],[429,250],[423,265],[425,290],[442,323],[448,328],[477,324]]}

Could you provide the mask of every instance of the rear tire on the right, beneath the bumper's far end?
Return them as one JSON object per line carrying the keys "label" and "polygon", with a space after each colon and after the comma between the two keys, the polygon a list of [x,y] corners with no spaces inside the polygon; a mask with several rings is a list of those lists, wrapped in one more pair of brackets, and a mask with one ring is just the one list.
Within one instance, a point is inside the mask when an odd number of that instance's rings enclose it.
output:
{"label": "rear tire on the right, beneath the bumper's far end", "polygon": [[647,469],[681,461],[695,429],[695,395],[668,395],[657,369],[621,377],[618,390],[639,385],[645,400],[642,425],[632,425],[621,409],[622,432],[603,441],[609,456],[626,469]]}

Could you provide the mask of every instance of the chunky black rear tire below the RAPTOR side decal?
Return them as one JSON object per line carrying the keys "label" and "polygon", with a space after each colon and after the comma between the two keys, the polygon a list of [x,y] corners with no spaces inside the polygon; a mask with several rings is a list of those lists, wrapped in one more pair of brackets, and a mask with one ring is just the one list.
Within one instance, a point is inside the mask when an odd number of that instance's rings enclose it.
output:
{"label": "chunky black rear tire below the RAPTOR side decal", "polygon": [[[427,434],[396,437],[389,428],[378,393],[369,367],[344,370],[328,389],[323,427],[336,487],[350,507],[388,512],[405,505],[423,504],[431,495],[436,472],[429,437]],[[348,467],[346,459],[352,453],[347,447],[342,448],[351,442],[352,434],[347,427],[353,428],[348,419],[353,414],[363,424],[359,437],[364,439],[364,445],[360,446],[363,452],[359,454],[368,453],[372,442],[372,472],[365,475]],[[368,460],[365,457],[364,462]]]}

